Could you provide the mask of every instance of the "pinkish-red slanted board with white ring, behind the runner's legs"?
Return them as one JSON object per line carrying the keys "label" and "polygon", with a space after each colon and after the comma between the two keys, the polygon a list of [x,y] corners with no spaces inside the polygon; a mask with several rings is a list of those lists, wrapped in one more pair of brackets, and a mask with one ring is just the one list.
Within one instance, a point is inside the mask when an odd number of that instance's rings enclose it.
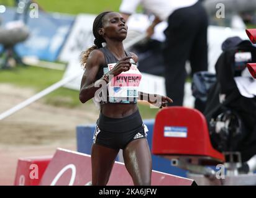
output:
{"label": "pinkish-red slanted board with white ring, behind the runner's legs", "polygon": [[[40,185],[82,186],[91,181],[91,156],[84,153],[57,149],[54,157],[43,174]],[[190,186],[192,179],[181,178],[158,171],[152,172],[152,185],[155,186]],[[109,186],[131,186],[132,178],[124,163],[115,162],[111,173]]]}

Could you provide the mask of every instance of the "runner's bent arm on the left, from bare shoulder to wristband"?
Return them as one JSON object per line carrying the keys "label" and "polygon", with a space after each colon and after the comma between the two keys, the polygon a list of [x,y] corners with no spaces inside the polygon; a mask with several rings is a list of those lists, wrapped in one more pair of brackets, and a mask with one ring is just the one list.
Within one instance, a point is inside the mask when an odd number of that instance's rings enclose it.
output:
{"label": "runner's bent arm on the left, from bare shoulder to wristband", "polygon": [[80,95],[79,99],[81,103],[85,103],[94,97],[96,90],[100,86],[95,86],[95,84],[104,84],[106,81],[101,77],[101,79],[95,82],[95,77],[99,71],[99,67],[104,64],[104,54],[99,50],[93,50],[88,57],[86,62],[85,73],[81,80]]}

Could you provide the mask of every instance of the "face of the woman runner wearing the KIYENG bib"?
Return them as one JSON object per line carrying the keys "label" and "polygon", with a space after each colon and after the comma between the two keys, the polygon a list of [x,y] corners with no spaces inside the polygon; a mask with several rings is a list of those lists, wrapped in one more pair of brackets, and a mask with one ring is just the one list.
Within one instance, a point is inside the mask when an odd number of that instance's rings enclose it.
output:
{"label": "face of the woman runner wearing the KIYENG bib", "polygon": [[103,35],[103,38],[124,40],[127,36],[126,21],[121,14],[117,12],[110,12],[104,16],[103,28],[100,28],[99,33]]}

